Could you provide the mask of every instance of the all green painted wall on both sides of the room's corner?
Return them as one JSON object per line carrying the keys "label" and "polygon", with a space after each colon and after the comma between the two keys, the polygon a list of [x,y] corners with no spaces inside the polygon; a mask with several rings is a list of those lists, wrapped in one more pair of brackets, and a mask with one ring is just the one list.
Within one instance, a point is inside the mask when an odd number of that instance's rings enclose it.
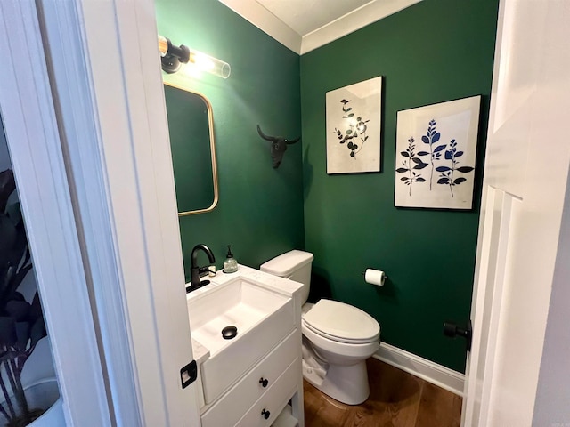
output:
{"label": "all green painted wall on both sides of the room's corner", "polygon": [[[187,272],[198,243],[218,268],[226,244],[252,267],[305,247],[315,255],[311,298],[352,303],[379,320],[383,342],[463,371],[464,342],[445,338],[442,322],[464,323],[471,303],[498,0],[424,0],[300,58],[217,1],[156,7],[161,35],[232,65],[227,80],[175,81],[211,101],[219,169],[216,209],[180,218]],[[382,172],[327,175],[325,93],[377,76]],[[396,112],[477,94],[475,208],[395,208]],[[279,169],[257,124],[288,138],[302,132]],[[366,268],[386,270],[387,285],[365,284]]]}

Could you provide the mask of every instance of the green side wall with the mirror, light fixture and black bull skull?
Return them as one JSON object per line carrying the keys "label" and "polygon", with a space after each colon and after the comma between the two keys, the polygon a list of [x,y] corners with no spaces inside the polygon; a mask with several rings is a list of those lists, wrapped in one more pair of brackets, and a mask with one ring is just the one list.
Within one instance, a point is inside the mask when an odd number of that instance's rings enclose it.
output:
{"label": "green side wall with the mirror, light fixture and black bull skull", "polygon": [[[205,74],[176,83],[205,94],[214,109],[220,199],[207,214],[180,218],[184,267],[204,243],[221,268],[225,245],[238,262],[260,263],[304,247],[301,144],[273,169],[269,142],[256,131],[301,134],[299,56],[214,0],[157,0],[159,34],[229,62],[224,80]],[[207,264],[199,254],[200,265]]]}

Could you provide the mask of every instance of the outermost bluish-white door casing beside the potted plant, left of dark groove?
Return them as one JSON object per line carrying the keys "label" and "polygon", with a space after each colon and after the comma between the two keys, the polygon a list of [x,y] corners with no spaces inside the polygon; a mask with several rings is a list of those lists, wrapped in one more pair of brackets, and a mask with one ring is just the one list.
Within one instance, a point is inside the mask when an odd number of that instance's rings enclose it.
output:
{"label": "outermost bluish-white door casing beside the potted plant, left of dark groove", "polygon": [[108,426],[110,411],[34,2],[0,2],[0,56],[0,109],[66,422]]}

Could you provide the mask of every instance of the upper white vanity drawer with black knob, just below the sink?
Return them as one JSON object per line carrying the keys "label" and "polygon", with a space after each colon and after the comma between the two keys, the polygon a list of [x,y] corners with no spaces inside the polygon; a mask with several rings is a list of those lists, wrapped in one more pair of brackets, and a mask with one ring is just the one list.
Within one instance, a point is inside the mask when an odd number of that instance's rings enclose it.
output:
{"label": "upper white vanity drawer with black knob, just below the sink", "polygon": [[[256,402],[285,371],[291,360],[300,357],[301,341],[298,331],[294,331],[281,342],[265,359],[235,384],[224,397],[202,415],[202,427],[221,427],[234,425],[240,417]],[[300,381],[301,368],[293,374]],[[267,380],[265,387],[261,379]]]}

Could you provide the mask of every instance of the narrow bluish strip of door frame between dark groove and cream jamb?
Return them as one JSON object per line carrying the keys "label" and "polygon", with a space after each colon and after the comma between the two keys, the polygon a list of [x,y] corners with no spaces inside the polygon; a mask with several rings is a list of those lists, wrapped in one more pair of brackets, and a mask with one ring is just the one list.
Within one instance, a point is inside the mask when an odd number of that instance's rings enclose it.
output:
{"label": "narrow bluish strip of door frame between dark groove and cream jamb", "polygon": [[141,397],[134,375],[133,343],[125,322],[128,315],[116,248],[116,224],[109,203],[93,79],[86,65],[88,53],[85,28],[80,25],[81,4],[51,0],[37,4],[62,146],[74,187],[78,234],[88,263],[87,286],[99,307],[97,326],[101,331],[103,369],[113,401],[113,415],[118,425],[140,426]]}

